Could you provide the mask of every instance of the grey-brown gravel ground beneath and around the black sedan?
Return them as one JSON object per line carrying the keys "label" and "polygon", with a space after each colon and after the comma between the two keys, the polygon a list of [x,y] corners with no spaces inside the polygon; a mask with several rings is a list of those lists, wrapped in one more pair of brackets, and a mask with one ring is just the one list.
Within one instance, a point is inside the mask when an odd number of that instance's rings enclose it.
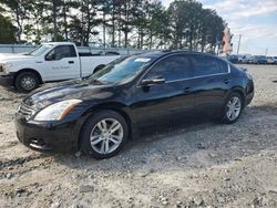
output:
{"label": "grey-brown gravel ground beneath and around the black sedan", "polygon": [[277,66],[247,67],[256,94],[236,124],[145,129],[105,160],[21,145],[23,95],[0,86],[0,207],[277,207]]}

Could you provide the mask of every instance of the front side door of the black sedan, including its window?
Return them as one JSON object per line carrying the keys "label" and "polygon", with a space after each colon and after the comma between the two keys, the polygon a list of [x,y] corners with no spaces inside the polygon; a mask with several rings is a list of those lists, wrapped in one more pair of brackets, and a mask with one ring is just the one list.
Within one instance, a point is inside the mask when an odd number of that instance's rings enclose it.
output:
{"label": "front side door of the black sedan, including its window", "polygon": [[136,87],[137,102],[133,105],[140,124],[148,125],[176,115],[184,115],[194,106],[191,61],[174,54],[158,61],[142,80],[165,79],[165,83]]}

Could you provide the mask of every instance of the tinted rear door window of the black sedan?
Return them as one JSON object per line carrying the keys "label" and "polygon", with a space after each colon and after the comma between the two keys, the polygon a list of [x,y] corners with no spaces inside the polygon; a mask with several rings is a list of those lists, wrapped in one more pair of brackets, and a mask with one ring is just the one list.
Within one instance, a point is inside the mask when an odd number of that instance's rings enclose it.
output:
{"label": "tinted rear door window of the black sedan", "polygon": [[227,64],[215,58],[206,55],[192,55],[195,76],[227,73]]}

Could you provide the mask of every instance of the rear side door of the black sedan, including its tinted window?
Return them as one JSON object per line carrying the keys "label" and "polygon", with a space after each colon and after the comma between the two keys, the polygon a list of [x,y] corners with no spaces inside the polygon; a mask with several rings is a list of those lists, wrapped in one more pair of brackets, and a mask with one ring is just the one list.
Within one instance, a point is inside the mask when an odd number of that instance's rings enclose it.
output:
{"label": "rear side door of the black sedan, including its tinted window", "polygon": [[227,62],[204,54],[191,56],[194,66],[195,107],[214,113],[224,104],[224,97],[230,86]]}

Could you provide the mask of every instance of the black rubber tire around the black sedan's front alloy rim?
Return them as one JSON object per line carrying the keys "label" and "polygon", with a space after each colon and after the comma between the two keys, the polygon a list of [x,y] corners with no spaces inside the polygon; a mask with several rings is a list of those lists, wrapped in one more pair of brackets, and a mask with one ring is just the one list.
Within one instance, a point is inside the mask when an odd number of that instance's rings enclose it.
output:
{"label": "black rubber tire around the black sedan's front alloy rim", "polygon": [[[122,141],[119,143],[119,146],[115,149],[113,149],[111,153],[104,153],[104,154],[95,150],[94,148],[96,148],[96,147],[95,146],[92,147],[92,144],[91,144],[91,134],[93,134],[93,131],[96,131],[95,129],[96,125],[103,119],[114,119],[121,124],[121,127],[122,127],[121,129],[123,129],[123,137],[122,137]],[[102,136],[101,133],[99,135]],[[96,136],[99,136],[99,135],[96,135]],[[99,138],[96,138],[96,139],[99,139]],[[81,146],[81,149],[85,154],[94,157],[95,159],[104,159],[104,158],[109,158],[109,157],[116,155],[123,148],[123,146],[127,142],[127,138],[129,138],[129,125],[127,125],[125,118],[121,114],[119,114],[114,111],[107,110],[107,111],[101,111],[101,112],[94,114],[92,117],[90,117],[84,123],[82,131],[81,131],[81,137],[80,137],[81,144],[80,144],[80,146]],[[99,142],[98,144],[99,144],[99,146],[101,146],[101,145],[103,145],[103,143],[105,143],[104,139]],[[110,142],[110,144],[111,144],[111,142]],[[106,148],[106,147],[104,147],[104,148]]]}

